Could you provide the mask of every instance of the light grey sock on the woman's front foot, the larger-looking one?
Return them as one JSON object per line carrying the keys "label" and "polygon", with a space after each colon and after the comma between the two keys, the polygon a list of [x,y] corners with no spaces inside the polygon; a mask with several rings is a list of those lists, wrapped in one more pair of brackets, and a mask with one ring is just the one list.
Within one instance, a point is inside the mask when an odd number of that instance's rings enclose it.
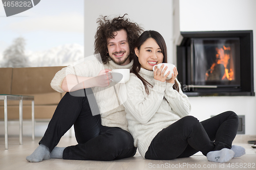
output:
{"label": "light grey sock on the woman's front foot, the larger-looking one", "polygon": [[234,157],[234,152],[230,149],[223,148],[220,151],[211,151],[206,155],[207,159],[212,162],[228,162]]}

